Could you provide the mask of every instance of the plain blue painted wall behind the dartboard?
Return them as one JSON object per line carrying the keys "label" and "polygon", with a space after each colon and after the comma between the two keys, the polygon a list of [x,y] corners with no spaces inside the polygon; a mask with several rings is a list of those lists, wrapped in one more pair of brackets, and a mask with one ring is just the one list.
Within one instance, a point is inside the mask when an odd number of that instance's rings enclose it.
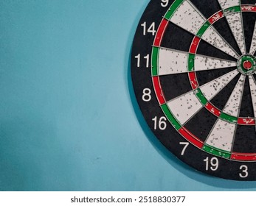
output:
{"label": "plain blue painted wall behind the dartboard", "polygon": [[255,191],[198,173],[139,112],[131,44],[148,0],[0,1],[1,191]]}

